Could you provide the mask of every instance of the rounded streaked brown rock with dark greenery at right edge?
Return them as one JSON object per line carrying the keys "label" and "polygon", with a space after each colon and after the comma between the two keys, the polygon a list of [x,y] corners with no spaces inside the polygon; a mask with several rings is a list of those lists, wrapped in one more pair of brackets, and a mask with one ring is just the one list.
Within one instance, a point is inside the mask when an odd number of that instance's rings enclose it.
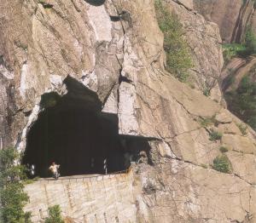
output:
{"label": "rounded streaked brown rock with dark greenery at right edge", "polygon": [[[249,93],[249,88],[253,88],[252,86],[256,81],[255,67],[255,56],[233,58],[224,67],[220,79],[221,88],[228,108],[246,123],[251,125],[253,129],[255,129],[253,123],[253,107],[255,101],[253,100],[254,94]],[[247,92],[241,90],[246,89],[246,81],[248,83]],[[242,103],[239,102],[240,100]]]}

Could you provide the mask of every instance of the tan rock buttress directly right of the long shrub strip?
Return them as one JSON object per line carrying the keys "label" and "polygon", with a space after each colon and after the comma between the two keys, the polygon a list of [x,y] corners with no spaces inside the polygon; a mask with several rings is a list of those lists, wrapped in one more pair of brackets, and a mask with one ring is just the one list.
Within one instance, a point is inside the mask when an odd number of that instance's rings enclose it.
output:
{"label": "tan rock buttress directly right of the long shrub strip", "polygon": [[[189,2],[188,2],[189,3]],[[190,69],[190,84],[201,92],[210,91],[212,100],[220,102],[222,95],[218,88],[218,78],[223,66],[223,55],[218,26],[183,7],[183,4],[168,2],[173,13],[183,24],[184,37],[189,43],[193,60]]]}

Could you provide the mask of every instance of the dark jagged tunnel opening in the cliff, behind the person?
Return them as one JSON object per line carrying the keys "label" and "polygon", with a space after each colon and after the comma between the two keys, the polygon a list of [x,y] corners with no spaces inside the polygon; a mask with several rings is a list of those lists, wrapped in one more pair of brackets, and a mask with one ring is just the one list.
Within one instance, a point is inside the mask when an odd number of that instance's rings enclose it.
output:
{"label": "dark jagged tunnel opening in the cliff, behind the person", "polygon": [[70,79],[67,89],[62,97],[42,96],[44,111],[27,134],[22,163],[34,164],[40,177],[50,176],[52,162],[61,165],[61,176],[105,174],[104,161],[108,174],[128,169],[140,140],[120,136],[118,117],[102,113],[100,101],[84,86]]}

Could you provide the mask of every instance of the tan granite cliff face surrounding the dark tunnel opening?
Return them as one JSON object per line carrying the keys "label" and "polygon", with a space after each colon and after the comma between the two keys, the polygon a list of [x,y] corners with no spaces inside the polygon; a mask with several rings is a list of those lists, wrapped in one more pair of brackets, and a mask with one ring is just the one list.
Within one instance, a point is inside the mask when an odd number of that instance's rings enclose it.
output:
{"label": "tan granite cliff face surrounding the dark tunnel opening", "polygon": [[[1,3],[5,145],[24,150],[27,132],[44,109],[41,95],[67,94],[67,78],[73,78],[119,117],[119,134],[148,139],[150,162],[134,167],[141,186],[137,222],[256,222],[255,132],[241,134],[236,129],[241,121],[230,111],[166,73],[153,0],[89,2]],[[195,73],[218,76],[218,27],[188,6],[169,3],[191,36]],[[124,20],[110,19],[122,11]],[[210,79],[204,74],[196,78],[201,86]],[[212,139],[212,132],[222,137]],[[230,174],[212,169],[220,146],[229,150]]]}

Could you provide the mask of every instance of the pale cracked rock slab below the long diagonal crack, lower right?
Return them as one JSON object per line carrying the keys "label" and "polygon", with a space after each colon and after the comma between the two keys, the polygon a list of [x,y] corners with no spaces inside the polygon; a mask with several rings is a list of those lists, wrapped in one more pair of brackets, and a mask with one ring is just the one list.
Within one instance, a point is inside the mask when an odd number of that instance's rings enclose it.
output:
{"label": "pale cracked rock slab below the long diagonal crack, lower right", "polygon": [[[145,190],[150,214],[143,216],[144,222],[242,222],[255,209],[255,191],[244,180],[177,160],[166,163],[162,161],[157,172],[156,167],[143,169],[144,188],[156,190]],[[154,175],[161,180],[155,181]]]}

